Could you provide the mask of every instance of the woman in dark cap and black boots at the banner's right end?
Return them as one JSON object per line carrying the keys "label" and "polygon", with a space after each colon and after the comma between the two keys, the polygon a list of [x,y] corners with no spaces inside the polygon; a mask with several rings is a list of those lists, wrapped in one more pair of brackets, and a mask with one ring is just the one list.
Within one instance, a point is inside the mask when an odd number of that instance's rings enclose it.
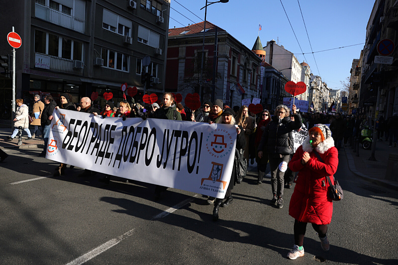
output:
{"label": "woman in dark cap and black boots at the banner's right end", "polygon": [[[235,124],[235,111],[233,111],[232,108],[226,108],[222,112],[221,120],[218,123],[222,124]],[[241,125],[238,125],[236,127],[236,132],[237,132],[237,139],[236,139],[236,149],[244,149],[246,146],[246,139],[244,137],[244,133],[241,133],[243,131],[243,127]],[[222,199],[216,198],[214,201],[214,209],[213,209],[213,221],[218,220],[218,210],[221,207],[227,207],[229,204],[231,204],[232,201],[232,189],[233,186],[236,183],[237,177],[236,175],[236,159],[234,160],[234,165],[232,167],[232,174],[231,174],[231,179],[229,180],[229,184],[227,187],[227,191],[225,193],[225,198],[226,200],[222,202]]]}

